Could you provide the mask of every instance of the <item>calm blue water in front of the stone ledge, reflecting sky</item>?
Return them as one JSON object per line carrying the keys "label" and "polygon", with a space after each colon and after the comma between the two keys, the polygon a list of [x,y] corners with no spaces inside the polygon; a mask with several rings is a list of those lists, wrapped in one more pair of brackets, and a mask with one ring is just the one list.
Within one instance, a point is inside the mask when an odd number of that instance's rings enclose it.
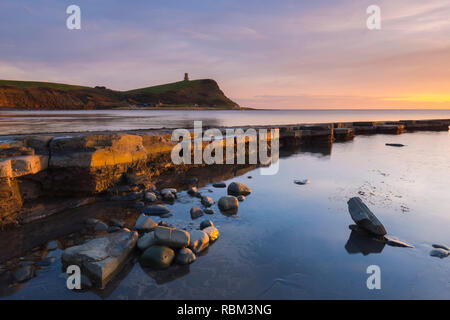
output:
{"label": "calm blue water in front of the stone ledge, reflecting sky", "polygon": [[[406,147],[389,148],[386,142]],[[261,176],[256,168],[237,176],[217,171],[227,183],[247,184],[252,194],[239,204],[237,216],[224,216],[214,205],[216,214],[207,218],[220,237],[189,268],[155,271],[133,257],[104,291],[71,292],[57,259],[19,287],[6,286],[0,276],[0,293],[4,299],[450,299],[448,259],[429,256],[431,244],[450,244],[450,134],[358,136],[330,151],[287,150],[274,176]],[[213,188],[214,172],[208,174],[211,179],[202,180],[199,190],[217,202],[226,190]],[[296,185],[294,178],[311,183]],[[384,245],[349,230],[347,200],[353,196],[364,200],[389,236],[414,248]],[[174,216],[165,220],[186,226],[200,199],[183,191],[169,206]],[[33,235],[20,237],[27,243]],[[380,266],[382,290],[367,289],[369,265]]]}

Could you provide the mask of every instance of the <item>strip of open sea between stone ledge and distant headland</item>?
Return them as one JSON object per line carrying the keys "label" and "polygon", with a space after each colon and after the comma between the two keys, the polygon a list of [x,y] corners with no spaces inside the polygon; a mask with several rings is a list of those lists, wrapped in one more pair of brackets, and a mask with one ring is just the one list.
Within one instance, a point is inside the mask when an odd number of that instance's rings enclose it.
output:
{"label": "strip of open sea between stone ledge and distant headland", "polygon": [[0,111],[0,135],[281,125],[346,121],[449,119],[450,110],[98,110]]}

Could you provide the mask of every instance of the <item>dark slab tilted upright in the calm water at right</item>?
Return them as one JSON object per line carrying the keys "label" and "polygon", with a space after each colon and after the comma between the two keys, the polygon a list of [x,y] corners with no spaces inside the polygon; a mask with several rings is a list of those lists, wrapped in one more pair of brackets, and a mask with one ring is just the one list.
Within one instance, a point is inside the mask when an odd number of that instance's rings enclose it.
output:
{"label": "dark slab tilted upright in the calm water at right", "polygon": [[378,236],[386,235],[387,232],[383,224],[362,202],[361,198],[351,198],[347,204],[348,211],[350,212],[353,221],[355,221],[358,226]]}

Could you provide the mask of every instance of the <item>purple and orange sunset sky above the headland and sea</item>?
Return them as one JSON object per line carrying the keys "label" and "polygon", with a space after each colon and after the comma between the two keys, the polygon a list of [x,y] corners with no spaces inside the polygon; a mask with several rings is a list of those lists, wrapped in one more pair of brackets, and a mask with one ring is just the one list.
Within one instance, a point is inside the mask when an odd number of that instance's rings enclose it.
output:
{"label": "purple and orange sunset sky above the headland and sea", "polygon": [[185,72],[244,107],[450,108],[450,0],[0,0],[0,79],[129,90]]}

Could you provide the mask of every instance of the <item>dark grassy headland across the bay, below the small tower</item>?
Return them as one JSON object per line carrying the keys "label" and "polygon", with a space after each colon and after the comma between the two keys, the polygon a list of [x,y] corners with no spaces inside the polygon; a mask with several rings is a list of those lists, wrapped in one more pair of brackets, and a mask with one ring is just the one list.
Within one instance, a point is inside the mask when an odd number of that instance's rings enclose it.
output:
{"label": "dark grassy headland across the bay, below the small tower", "polygon": [[0,81],[0,109],[111,109],[129,106],[185,105],[233,108],[214,80],[182,81],[167,85],[114,91],[50,83]]}

